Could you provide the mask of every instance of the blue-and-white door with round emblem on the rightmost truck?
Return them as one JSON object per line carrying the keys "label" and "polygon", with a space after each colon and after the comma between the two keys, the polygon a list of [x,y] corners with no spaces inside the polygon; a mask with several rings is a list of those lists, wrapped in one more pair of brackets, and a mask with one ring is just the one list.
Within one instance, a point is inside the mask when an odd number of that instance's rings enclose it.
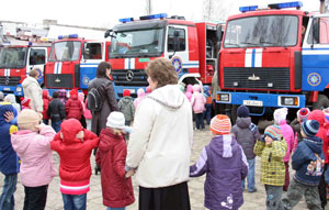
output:
{"label": "blue-and-white door with round emblem on the rightmost truck", "polygon": [[310,16],[303,41],[302,89],[322,91],[329,84],[329,14]]}

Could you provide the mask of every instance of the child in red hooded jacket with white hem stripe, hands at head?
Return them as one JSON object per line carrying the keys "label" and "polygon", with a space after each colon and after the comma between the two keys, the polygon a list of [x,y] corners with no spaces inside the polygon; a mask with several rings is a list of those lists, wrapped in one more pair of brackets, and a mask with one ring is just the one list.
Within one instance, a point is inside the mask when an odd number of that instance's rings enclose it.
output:
{"label": "child in red hooded jacket with white hem stripe, hands at head", "polygon": [[98,146],[99,137],[84,130],[76,119],[60,124],[50,143],[52,150],[60,157],[59,177],[64,209],[86,209],[89,179],[91,176],[90,155]]}

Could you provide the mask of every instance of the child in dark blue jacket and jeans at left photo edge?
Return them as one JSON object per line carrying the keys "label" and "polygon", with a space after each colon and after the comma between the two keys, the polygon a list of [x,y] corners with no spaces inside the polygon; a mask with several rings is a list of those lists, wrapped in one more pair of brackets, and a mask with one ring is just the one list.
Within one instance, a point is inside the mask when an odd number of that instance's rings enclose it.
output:
{"label": "child in dark blue jacket and jeans at left photo edge", "polygon": [[16,111],[10,103],[0,104],[0,172],[4,175],[4,184],[0,196],[0,209],[14,209],[14,192],[16,190],[18,173],[20,172],[19,157],[11,145],[11,134],[18,131],[8,120],[8,113]]}

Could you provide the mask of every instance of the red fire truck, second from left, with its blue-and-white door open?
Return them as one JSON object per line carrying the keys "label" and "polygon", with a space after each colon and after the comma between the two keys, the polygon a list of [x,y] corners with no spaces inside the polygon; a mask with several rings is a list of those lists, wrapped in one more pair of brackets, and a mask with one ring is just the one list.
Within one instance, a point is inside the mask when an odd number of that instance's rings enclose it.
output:
{"label": "red fire truck, second from left, with its blue-and-white door open", "polygon": [[58,36],[46,64],[45,87],[49,92],[72,88],[87,90],[99,63],[107,59],[109,47],[107,41],[84,40],[78,34]]}

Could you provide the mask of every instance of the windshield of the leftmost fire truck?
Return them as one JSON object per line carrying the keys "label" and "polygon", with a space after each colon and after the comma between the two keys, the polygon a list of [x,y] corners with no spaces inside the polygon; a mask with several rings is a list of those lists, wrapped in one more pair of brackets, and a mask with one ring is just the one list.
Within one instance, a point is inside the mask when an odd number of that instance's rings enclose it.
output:
{"label": "windshield of the leftmost fire truck", "polygon": [[0,51],[0,68],[23,68],[26,64],[26,47],[5,47]]}

